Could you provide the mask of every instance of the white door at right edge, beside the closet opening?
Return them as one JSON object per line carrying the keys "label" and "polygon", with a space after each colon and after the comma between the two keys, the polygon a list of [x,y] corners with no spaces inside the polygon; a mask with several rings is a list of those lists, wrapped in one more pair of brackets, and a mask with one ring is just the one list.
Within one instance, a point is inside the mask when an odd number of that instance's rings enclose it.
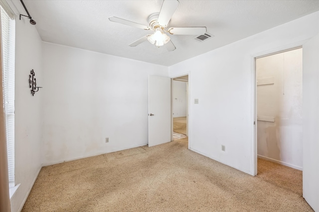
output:
{"label": "white door at right edge, beside the closet opening", "polygon": [[303,197],[319,212],[319,35],[303,45]]}

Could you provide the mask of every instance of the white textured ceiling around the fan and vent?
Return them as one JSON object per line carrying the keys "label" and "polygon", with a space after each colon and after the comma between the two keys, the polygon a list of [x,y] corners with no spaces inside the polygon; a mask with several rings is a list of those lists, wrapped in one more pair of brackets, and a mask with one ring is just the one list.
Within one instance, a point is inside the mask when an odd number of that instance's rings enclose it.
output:
{"label": "white textured ceiling around the fan and vent", "polygon": [[[17,8],[20,1],[12,0]],[[171,66],[319,10],[319,0],[179,0],[169,27],[206,26],[213,38],[170,35],[176,50],[144,42],[150,31],[109,21],[117,16],[148,25],[162,0],[24,0],[43,41]],[[19,5],[18,5],[19,4]],[[25,11],[19,11],[25,14]],[[17,19],[17,21],[19,21]]]}

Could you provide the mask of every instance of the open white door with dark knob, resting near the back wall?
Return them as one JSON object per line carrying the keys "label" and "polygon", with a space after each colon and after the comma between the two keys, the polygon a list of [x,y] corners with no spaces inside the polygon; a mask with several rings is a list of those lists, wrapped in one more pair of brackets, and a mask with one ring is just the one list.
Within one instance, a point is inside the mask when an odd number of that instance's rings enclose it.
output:
{"label": "open white door with dark knob, resting near the back wall", "polygon": [[149,76],[149,146],[171,139],[170,78]]}

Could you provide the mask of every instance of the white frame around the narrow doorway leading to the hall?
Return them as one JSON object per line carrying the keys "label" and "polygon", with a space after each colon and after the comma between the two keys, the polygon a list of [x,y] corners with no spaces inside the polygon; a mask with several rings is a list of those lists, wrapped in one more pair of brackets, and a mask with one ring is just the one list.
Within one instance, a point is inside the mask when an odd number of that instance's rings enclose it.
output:
{"label": "white frame around the narrow doorway leading to the hall", "polygon": [[185,75],[188,75],[188,83],[186,83],[186,86],[188,85],[187,87],[187,96],[186,96],[186,99],[187,99],[187,105],[186,105],[186,128],[187,128],[187,137],[188,137],[188,149],[190,148],[190,128],[189,128],[189,123],[190,123],[190,119],[189,119],[189,111],[190,111],[190,71],[189,72],[186,72],[186,73],[182,73],[182,74],[178,74],[178,75],[173,75],[173,76],[170,76],[170,80],[171,80],[171,101],[170,101],[170,107],[171,107],[171,114],[170,114],[170,119],[171,119],[171,141],[173,141],[173,91],[174,91],[174,88],[173,88],[173,79],[174,78],[178,78],[180,76],[185,76]]}

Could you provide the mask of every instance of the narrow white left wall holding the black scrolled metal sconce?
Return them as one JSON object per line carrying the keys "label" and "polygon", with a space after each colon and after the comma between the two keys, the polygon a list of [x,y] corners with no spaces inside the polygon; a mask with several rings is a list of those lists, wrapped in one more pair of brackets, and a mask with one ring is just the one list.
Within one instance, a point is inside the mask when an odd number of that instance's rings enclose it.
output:
{"label": "narrow white left wall holding the black scrolled metal sconce", "polygon": [[42,147],[43,89],[30,93],[29,74],[33,69],[37,86],[44,85],[39,34],[28,19],[15,21],[15,183],[20,184],[11,199],[11,211],[22,209],[40,171]]}

